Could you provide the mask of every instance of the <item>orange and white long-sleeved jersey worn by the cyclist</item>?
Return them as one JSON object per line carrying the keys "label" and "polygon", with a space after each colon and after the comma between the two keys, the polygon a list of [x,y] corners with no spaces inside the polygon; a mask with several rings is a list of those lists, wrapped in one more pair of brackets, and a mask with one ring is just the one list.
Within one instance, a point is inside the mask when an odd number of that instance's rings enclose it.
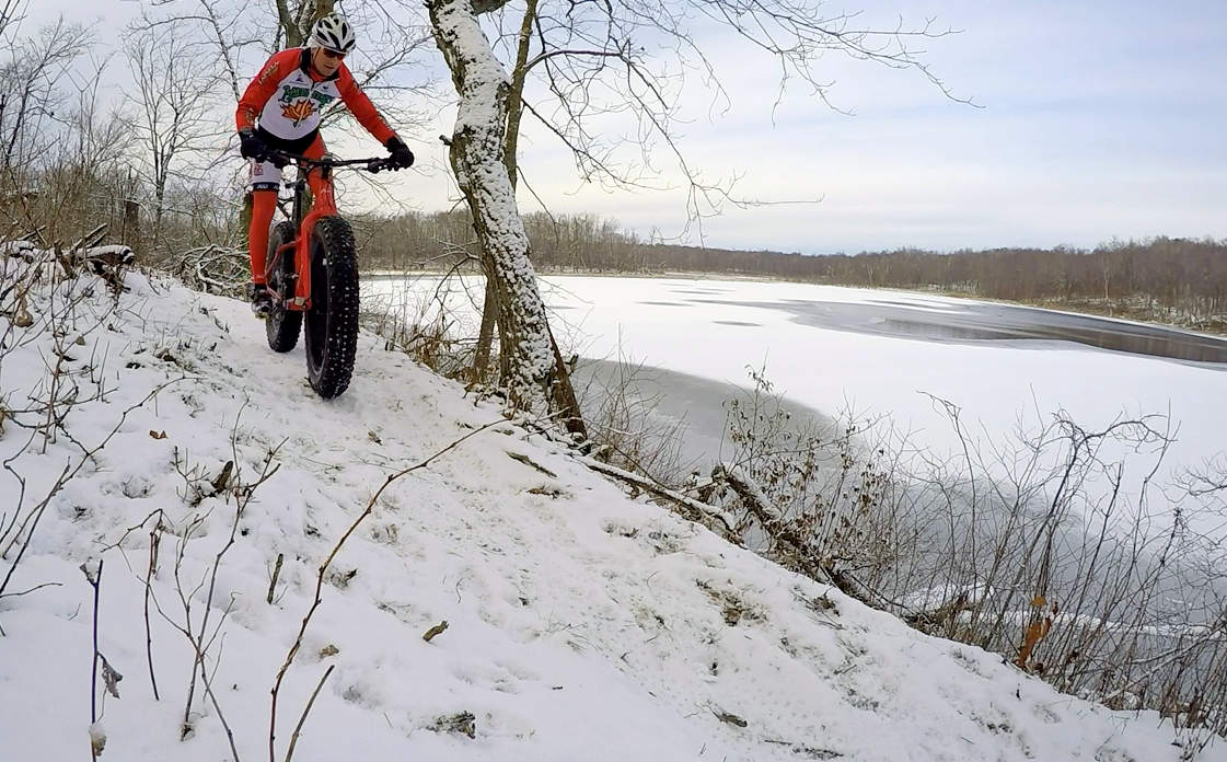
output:
{"label": "orange and white long-sleeved jersey worn by the cyclist", "polygon": [[324,109],[337,98],[380,144],[396,135],[344,61],[333,76],[321,77],[312,69],[309,48],[274,54],[247,86],[234,119],[239,130],[259,128],[274,147],[301,153],[315,139]]}

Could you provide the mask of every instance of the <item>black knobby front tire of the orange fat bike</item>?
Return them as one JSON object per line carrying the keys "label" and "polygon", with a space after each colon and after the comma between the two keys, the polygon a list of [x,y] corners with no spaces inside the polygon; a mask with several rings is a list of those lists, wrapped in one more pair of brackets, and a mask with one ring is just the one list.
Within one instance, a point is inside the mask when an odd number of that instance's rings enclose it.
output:
{"label": "black knobby front tire of the orange fat bike", "polygon": [[321,217],[310,241],[310,309],[306,319],[307,380],[325,400],[342,394],[358,346],[358,261],[353,229]]}

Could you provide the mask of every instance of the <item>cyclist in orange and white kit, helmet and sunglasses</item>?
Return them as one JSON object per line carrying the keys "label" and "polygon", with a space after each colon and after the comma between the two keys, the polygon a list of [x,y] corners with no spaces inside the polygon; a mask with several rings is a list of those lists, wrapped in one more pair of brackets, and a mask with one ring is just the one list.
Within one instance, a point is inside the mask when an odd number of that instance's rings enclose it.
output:
{"label": "cyclist in orange and white kit, helmet and sunglasses", "polygon": [[[306,48],[281,50],[264,64],[238,102],[240,153],[252,163],[252,227],[248,231],[252,282],[247,296],[252,312],[265,318],[272,308],[264,266],[269,253],[269,226],[277,206],[285,161],[270,151],[321,158],[326,152],[319,135],[321,112],[337,98],[371,135],[388,148],[399,167],[413,163],[413,152],[388,126],[371,98],[362,92],[345,65],[356,44],[345,18],[329,13],[315,22]],[[308,174],[318,195],[330,182],[318,171]]]}

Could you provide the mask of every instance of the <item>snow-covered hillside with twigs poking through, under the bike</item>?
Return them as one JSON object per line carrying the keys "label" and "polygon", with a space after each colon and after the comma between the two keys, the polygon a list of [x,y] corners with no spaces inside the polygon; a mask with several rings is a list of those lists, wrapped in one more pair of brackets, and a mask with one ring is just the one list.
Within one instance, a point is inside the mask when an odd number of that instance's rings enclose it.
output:
{"label": "snow-covered hillside with twigs poking through, under the bike", "polygon": [[[373,336],[323,402],[302,350],[270,352],[245,304],[126,285],[114,309],[92,277],[36,286],[32,325],[0,318],[5,761],[88,753],[91,558],[97,647],[123,675],[119,698],[98,680],[102,758],[232,758],[226,726],[239,758],[269,758],[270,690],[320,564],[389,475],[466,434],[391,482],[333,560],[274,758],[325,675],[302,762],[1180,757],[1155,714],[1055,693],[631,499]],[[184,631],[212,691],[195,681],[180,740]]]}

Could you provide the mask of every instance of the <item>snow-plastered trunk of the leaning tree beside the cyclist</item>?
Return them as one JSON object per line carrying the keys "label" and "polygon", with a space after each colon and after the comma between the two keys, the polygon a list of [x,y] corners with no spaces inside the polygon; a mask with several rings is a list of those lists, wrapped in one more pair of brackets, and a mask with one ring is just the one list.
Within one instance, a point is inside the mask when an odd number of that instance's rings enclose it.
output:
{"label": "snow-plastered trunk of the leaning tree beside the cyclist", "polygon": [[427,7],[434,39],[460,96],[449,158],[472,212],[486,276],[498,294],[508,396],[519,410],[545,412],[553,352],[529,261],[529,237],[503,161],[510,83],[477,23],[477,12],[499,5],[434,0]]}

